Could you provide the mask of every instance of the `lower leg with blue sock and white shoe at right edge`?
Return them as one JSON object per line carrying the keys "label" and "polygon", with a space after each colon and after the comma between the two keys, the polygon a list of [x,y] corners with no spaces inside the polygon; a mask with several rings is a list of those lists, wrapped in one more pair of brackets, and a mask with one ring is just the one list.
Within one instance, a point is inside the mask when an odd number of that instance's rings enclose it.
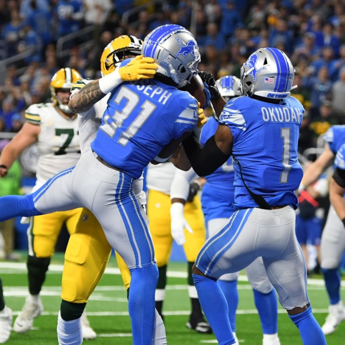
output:
{"label": "lower leg with blue sock and white shoe at right edge", "polygon": [[321,269],[329,297],[328,316],[322,326],[324,334],[333,333],[345,319],[345,309],[340,295],[339,264],[345,250],[345,231],[333,206],[321,236]]}

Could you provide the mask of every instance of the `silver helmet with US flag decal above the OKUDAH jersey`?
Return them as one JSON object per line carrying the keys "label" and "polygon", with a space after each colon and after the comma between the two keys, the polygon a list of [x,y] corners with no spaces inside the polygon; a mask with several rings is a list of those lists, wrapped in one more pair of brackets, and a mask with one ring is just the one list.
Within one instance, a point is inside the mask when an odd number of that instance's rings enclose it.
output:
{"label": "silver helmet with US flag decal above the OKUDAH jersey", "polygon": [[277,48],[260,48],[241,67],[242,94],[284,99],[290,96],[295,70]]}

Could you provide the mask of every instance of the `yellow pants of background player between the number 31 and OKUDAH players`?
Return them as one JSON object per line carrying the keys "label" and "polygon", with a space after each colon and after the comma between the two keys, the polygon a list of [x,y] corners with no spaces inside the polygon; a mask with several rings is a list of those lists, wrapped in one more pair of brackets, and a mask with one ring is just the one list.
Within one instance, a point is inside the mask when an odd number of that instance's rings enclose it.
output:
{"label": "yellow pants of background player between the number 31 and OKUDAH players", "polygon": [[[173,239],[170,229],[170,206],[169,195],[153,189],[148,191],[147,216],[158,267],[168,264],[171,253]],[[204,215],[198,196],[195,196],[191,203],[186,203],[185,218],[193,229],[193,234],[185,230],[186,242],[183,249],[187,260],[195,262],[205,243]]]}

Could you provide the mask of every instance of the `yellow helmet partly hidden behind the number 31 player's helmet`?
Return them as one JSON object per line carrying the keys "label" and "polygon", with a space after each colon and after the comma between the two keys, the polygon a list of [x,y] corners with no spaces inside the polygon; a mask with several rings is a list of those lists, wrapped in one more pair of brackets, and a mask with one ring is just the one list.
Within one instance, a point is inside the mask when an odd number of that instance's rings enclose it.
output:
{"label": "yellow helmet partly hidden behind the number 31 player's helmet", "polygon": [[101,73],[105,76],[113,72],[126,55],[140,55],[142,40],[131,35],[122,35],[112,40],[101,56]]}

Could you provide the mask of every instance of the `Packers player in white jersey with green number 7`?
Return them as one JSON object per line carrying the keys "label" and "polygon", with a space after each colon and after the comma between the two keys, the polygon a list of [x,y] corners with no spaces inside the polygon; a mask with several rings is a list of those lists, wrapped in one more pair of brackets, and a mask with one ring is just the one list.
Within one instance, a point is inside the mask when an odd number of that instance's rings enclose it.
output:
{"label": "Packers player in white jersey with green number 7", "polygon": [[[52,102],[33,104],[26,110],[26,123],[2,150],[0,177],[5,176],[21,152],[35,142],[39,159],[34,190],[40,188],[59,171],[76,165],[80,157],[78,120],[77,115],[69,110],[68,101],[72,83],[80,79],[79,72],[71,68],[61,68],[55,73],[50,83]],[[74,209],[30,219],[27,231],[29,295],[14,322],[14,331],[27,332],[34,318],[42,313],[43,306],[39,294],[61,227],[66,224],[69,233],[72,234],[80,212],[81,209]],[[87,339],[96,337],[85,315],[83,335]]]}

